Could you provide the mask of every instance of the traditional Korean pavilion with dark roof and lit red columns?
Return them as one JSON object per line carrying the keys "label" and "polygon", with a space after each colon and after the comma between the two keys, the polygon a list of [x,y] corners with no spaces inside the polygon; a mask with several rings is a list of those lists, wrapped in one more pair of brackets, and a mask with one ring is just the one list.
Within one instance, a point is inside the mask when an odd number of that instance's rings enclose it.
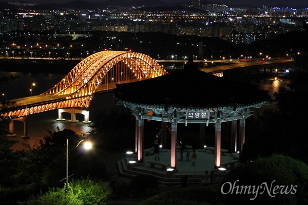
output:
{"label": "traditional Korean pavilion with dark roof and lit red columns", "polygon": [[[208,123],[215,123],[215,167],[218,168],[221,123],[232,121],[230,137],[233,139],[233,152],[241,151],[245,141],[245,120],[253,115],[251,108],[268,104],[270,99],[268,91],[257,89],[254,85],[198,70],[191,59],[183,70],[139,82],[117,84],[114,97],[117,104],[130,108],[136,117],[136,153],[139,162],[143,162],[144,120],[161,121],[162,132],[166,130],[166,123],[171,123],[170,166],[173,169],[177,166],[178,123],[200,123],[204,128]],[[238,121],[240,147],[237,148]],[[201,137],[200,148],[203,145],[204,139]],[[162,147],[165,146],[166,140],[162,137]]]}

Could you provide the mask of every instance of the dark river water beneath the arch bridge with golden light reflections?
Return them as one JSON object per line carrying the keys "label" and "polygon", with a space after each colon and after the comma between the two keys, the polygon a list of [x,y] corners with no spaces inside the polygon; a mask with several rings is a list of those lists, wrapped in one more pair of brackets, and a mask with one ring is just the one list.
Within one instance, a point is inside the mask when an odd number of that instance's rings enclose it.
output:
{"label": "dark river water beneath the arch bridge with golden light reflections", "polygon": [[[9,81],[9,84],[2,85],[1,92],[5,96],[1,96],[2,100],[12,100],[16,98],[27,97],[31,95],[30,87],[32,83],[35,83],[35,86],[32,87],[32,95],[42,94],[44,91],[48,90],[56,83],[58,83],[62,78],[65,77],[65,74],[42,74],[42,73],[17,73],[17,72],[0,72],[0,76],[18,76],[18,78],[13,81]],[[258,83],[255,83],[259,86],[260,89],[268,90],[269,95],[273,97],[274,93],[278,91],[279,87],[285,86],[289,83],[290,80],[286,79],[263,79]],[[114,99],[112,97],[112,92],[107,92],[105,94],[95,95],[90,107],[89,107],[89,120],[91,121],[92,117],[101,113],[102,110],[110,110],[115,105]],[[65,113],[64,118],[66,121],[56,121],[58,117],[57,110],[46,111],[38,114],[28,116],[28,136],[29,138],[21,138],[24,135],[23,122],[15,121],[14,122],[14,134],[16,137],[10,138],[11,140],[17,141],[13,146],[14,150],[21,150],[27,146],[35,146],[44,134],[48,134],[47,131],[56,131],[57,128],[63,130],[65,128],[72,129],[78,134],[87,134],[91,131],[89,124],[84,124],[83,115],[76,115],[76,119],[79,120],[77,123],[68,122],[71,118],[70,114]],[[8,128],[9,129],[9,128]]]}

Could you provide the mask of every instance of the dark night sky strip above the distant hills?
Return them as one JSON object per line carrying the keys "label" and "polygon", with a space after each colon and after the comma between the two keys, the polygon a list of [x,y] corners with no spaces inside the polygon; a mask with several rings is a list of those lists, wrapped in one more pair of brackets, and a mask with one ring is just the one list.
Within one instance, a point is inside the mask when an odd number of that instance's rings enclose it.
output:
{"label": "dark night sky strip above the distant hills", "polygon": [[[0,0],[0,2],[15,2],[16,0]],[[31,3],[39,3],[39,4],[49,4],[49,3],[66,3],[71,2],[73,0],[26,0],[25,2],[31,2]],[[82,0],[86,2],[93,2],[93,3],[99,3],[99,2],[106,2],[108,0]],[[110,1],[110,0],[109,0]],[[153,0],[133,0],[133,1],[153,1]],[[154,0],[156,1],[156,0]],[[183,2],[183,3],[190,3],[191,1],[187,0],[160,0],[162,2],[166,3],[174,3],[174,2]],[[125,2],[129,2],[128,0],[125,0]],[[302,6],[305,5],[308,7],[307,0],[220,0],[220,1],[207,1],[207,2],[213,2],[214,4],[226,4],[226,5],[252,5],[252,6],[275,6],[279,4],[284,4],[287,6]]]}

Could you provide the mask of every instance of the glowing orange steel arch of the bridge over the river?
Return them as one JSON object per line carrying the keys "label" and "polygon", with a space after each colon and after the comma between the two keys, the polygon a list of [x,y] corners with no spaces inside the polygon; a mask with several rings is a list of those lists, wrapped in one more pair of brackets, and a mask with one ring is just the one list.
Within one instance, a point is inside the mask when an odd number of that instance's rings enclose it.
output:
{"label": "glowing orange steel arch of the bridge over the river", "polygon": [[[89,55],[65,78],[41,94],[46,101],[17,106],[5,116],[20,118],[52,109],[87,109],[98,91],[167,74],[159,63],[146,54],[127,51],[101,51]],[[40,97],[38,96],[38,97]]]}

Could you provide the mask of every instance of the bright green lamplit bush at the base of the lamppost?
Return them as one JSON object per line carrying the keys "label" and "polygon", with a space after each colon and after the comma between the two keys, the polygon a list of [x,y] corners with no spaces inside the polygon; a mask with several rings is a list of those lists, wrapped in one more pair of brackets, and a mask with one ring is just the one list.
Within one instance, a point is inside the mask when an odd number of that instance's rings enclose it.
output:
{"label": "bright green lamplit bush at the base of the lamppost", "polygon": [[71,180],[70,189],[51,188],[45,194],[31,196],[26,204],[29,205],[106,205],[111,201],[111,190],[101,180],[90,179]]}

